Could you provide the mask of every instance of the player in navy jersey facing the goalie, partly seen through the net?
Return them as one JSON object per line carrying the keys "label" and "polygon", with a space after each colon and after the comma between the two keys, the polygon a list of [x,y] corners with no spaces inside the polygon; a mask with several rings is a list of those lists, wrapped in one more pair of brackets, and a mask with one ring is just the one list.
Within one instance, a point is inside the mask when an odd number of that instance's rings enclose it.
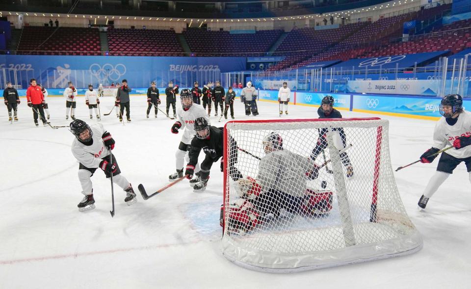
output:
{"label": "player in navy jersey facing the goalie, partly seen through the net", "polygon": [[[334,108],[334,102],[334,98],[330,95],[327,95],[322,99],[321,105],[317,109],[319,118],[342,118],[341,113]],[[347,144],[347,137],[343,128],[334,128],[332,131],[336,132],[332,137],[335,147],[338,150],[345,148]],[[324,150],[327,148],[327,132],[328,130],[326,128],[319,131],[319,138],[313,149],[313,152],[311,153],[311,159],[315,160],[317,156],[320,153],[324,153]],[[353,177],[353,167],[346,152],[340,154],[340,160],[347,169],[347,177]]]}

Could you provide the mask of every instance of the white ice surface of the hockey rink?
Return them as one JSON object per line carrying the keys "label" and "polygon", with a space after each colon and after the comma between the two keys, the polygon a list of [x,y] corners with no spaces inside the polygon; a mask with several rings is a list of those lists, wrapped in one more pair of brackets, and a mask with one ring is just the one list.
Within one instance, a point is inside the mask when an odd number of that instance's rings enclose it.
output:
{"label": "white ice surface of the hockey rink", "polygon": [[[136,204],[124,203],[125,192],[115,185],[116,215],[111,218],[110,183],[97,170],[92,178],[96,209],[79,212],[83,195],[78,162],[67,128],[36,128],[26,99],[20,121],[7,121],[1,108],[0,147],[0,288],[470,288],[471,184],[464,164],[446,180],[427,205],[417,202],[438,161],[418,163],[395,172],[402,201],[423,236],[416,254],[295,274],[247,270],[220,253],[222,173],[214,165],[208,188],[195,193],[187,180],[160,195]],[[65,100],[48,99],[51,124],[68,125]],[[101,113],[113,98],[103,98]],[[165,106],[160,105],[162,110]],[[177,103],[179,105],[179,103]],[[3,106],[3,105],[2,105]],[[83,97],[76,117],[89,119]],[[175,171],[181,134],[172,134],[174,121],[159,112],[145,117],[145,97],[131,97],[131,123],[113,113],[102,124],[116,140],[113,155],[135,191],[142,183],[149,192],[168,184]],[[317,107],[290,105],[283,118],[317,118]],[[259,102],[257,119],[278,119],[278,105]],[[376,116],[341,110],[344,117]],[[223,126],[211,115],[211,123]],[[391,116],[392,167],[419,159],[432,144],[434,121]],[[246,117],[235,102],[236,120]],[[200,156],[201,157],[201,156]],[[355,164],[354,164],[355,165]]]}

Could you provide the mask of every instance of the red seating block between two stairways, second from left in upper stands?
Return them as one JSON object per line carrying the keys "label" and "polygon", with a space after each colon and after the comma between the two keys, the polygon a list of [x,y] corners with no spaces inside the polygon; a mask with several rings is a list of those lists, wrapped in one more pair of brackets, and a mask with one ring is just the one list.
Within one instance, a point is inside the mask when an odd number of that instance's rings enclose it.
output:
{"label": "red seating block between two stairways, second from left in upper stands", "polygon": [[174,30],[108,29],[110,55],[183,56]]}

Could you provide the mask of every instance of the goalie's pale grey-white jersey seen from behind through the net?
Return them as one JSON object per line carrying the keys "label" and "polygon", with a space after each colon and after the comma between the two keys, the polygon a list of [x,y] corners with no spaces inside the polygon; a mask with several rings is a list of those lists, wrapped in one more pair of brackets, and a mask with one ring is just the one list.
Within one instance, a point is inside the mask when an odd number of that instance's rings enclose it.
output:
{"label": "goalie's pale grey-white jersey seen from behind through the net", "polygon": [[288,150],[268,153],[259,163],[257,183],[267,192],[274,189],[295,197],[304,196],[306,172],[314,168],[314,160]]}

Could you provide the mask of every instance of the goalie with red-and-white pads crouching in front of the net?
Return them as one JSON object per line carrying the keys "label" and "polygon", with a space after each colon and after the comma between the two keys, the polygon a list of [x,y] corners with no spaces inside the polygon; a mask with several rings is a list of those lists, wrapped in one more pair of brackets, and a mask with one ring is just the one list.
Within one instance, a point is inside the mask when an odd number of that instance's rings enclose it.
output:
{"label": "goalie with red-and-white pads crouching in front of the net", "polygon": [[302,215],[323,215],[332,209],[332,192],[307,188],[306,181],[318,176],[314,160],[283,149],[276,132],[264,138],[263,150],[266,156],[260,160],[257,180],[237,181],[240,199],[227,212],[230,232],[243,234],[278,219],[282,209]]}

